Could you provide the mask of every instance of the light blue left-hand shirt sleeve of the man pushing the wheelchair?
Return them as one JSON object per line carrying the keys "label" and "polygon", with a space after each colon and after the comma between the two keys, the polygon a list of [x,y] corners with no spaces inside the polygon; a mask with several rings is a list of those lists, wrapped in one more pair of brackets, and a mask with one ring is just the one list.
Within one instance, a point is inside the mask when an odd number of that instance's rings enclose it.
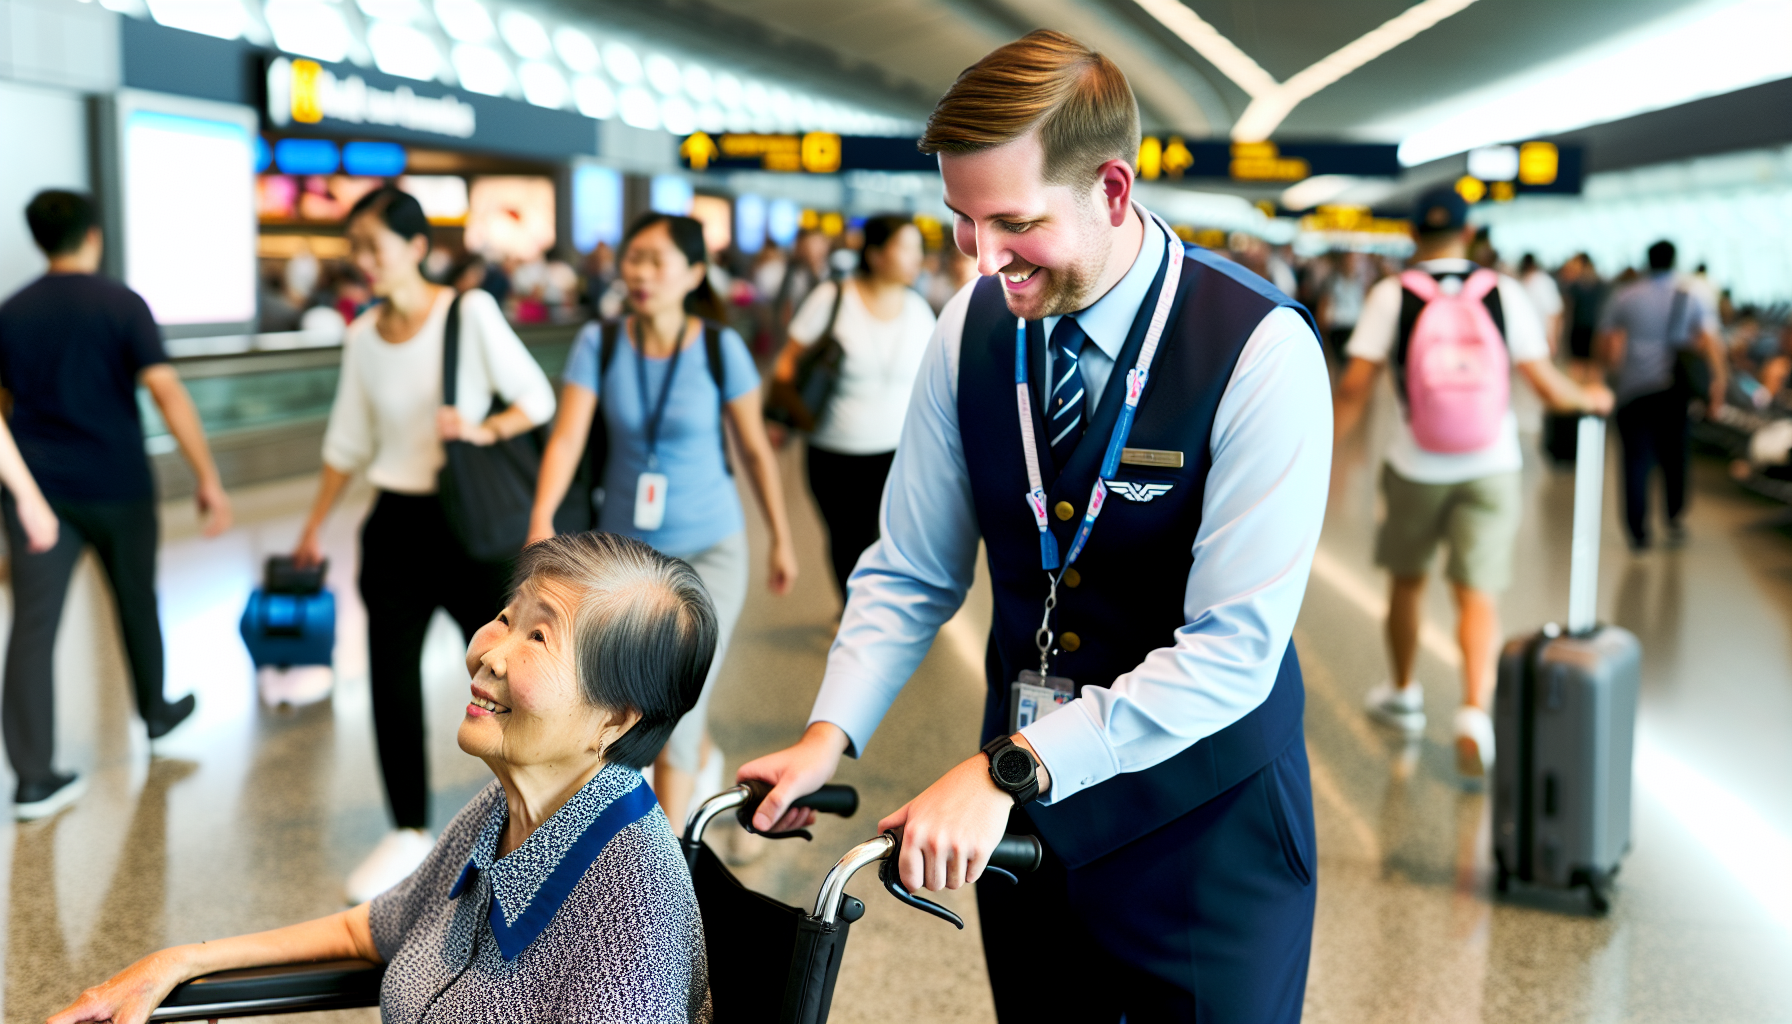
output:
{"label": "light blue left-hand shirt sleeve of the man pushing the wheelchair", "polygon": [[848,577],[840,633],[808,719],[840,726],[855,757],[964,603],[977,570],[977,511],[957,405],[971,287],[946,303],[934,326],[883,488],[880,540]]}

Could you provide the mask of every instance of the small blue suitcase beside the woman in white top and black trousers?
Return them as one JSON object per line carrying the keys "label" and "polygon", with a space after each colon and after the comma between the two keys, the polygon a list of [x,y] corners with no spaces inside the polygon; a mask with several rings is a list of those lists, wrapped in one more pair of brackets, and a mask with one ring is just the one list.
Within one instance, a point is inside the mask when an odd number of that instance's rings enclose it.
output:
{"label": "small blue suitcase beside the woman in white top and black trousers", "polygon": [[305,705],[330,694],[335,594],[324,590],[326,568],[328,563],[296,568],[290,558],[269,558],[262,586],[242,610],[242,642],[269,705]]}

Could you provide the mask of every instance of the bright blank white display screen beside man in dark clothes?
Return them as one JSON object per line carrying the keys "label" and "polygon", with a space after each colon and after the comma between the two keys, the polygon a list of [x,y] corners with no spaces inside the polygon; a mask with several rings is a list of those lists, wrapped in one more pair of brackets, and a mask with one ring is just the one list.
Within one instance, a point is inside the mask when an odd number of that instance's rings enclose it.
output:
{"label": "bright blank white display screen beside man in dark clothes", "polygon": [[254,319],[254,142],[226,120],[125,117],[124,276],[158,323]]}

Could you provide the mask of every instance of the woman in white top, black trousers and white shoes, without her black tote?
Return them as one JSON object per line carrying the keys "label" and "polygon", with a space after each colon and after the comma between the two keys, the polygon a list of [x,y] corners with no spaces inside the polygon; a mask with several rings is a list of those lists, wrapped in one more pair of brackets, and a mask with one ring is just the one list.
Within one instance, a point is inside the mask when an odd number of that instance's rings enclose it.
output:
{"label": "woman in white top, black trousers and white shoes, without her black tote", "polygon": [[[482,561],[448,527],[435,477],[443,441],[491,445],[547,423],[554,386],[484,291],[461,296],[455,404],[443,405],[443,343],[455,291],[423,276],[430,222],[418,201],[378,188],[348,215],[355,267],[376,303],[342,335],[342,377],[317,500],[294,558],[323,560],[317,540],[357,472],[378,488],[360,529],[360,597],[367,606],[367,674],[392,832],[348,877],[349,902],[371,900],[434,846],[423,746],[423,635],[446,608],[471,637],[504,604],[507,561]],[[493,396],[504,412],[487,416]]]}

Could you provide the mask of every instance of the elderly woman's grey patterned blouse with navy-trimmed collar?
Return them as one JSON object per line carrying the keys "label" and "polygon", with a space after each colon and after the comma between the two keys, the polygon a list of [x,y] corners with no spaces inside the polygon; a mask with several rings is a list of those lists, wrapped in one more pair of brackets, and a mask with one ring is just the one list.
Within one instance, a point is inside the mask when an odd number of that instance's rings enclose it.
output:
{"label": "elderly woman's grey patterned blouse with navy-trimmed collar", "polygon": [[373,900],[380,1017],[708,1024],[697,895],[642,773],[606,764],[521,846],[493,782]]}

